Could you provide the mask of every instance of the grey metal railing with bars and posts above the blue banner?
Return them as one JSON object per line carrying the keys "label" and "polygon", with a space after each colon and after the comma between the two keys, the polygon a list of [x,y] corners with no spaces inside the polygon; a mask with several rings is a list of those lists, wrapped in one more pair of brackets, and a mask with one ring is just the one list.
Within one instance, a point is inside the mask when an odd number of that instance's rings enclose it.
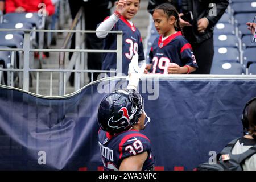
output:
{"label": "grey metal railing with bars and posts above the blue banner", "polygon": [[[1,29],[0,31],[17,31],[15,29]],[[53,73],[63,73],[62,80],[59,82],[65,83],[67,81],[67,73],[116,73],[117,75],[122,73],[122,31],[102,31],[117,34],[117,49],[115,50],[94,50],[94,49],[35,49],[30,47],[30,36],[31,32],[62,32],[62,33],[76,33],[76,34],[95,34],[96,31],[83,31],[83,30],[18,30],[24,32],[24,42],[23,48],[0,48],[0,51],[20,51],[23,52],[23,68],[5,68],[1,69],[1,71],[11,72],[11,86],[14,86],[14,72],[23,72],[22,78],[19,80],[23,80],[22,89],[29,92],[30,88],[30,72],[36,72],[36,94],[39,94],[39,72],[50,72],[50,86],[49,86],[49,95],[52,96],[52,75]],[[81,67],[76,67],[76,69],[33,69],[30,68],[30,52],[77,52],[77,53],[85,53],[85,52],[94,52],[94,53],[104,53],[111,52],[117,54],[117,69],[115,70],[88,70],[88,69],[79,69]],[[79,59],[80,60],[80,59]],[[77,82],[80,82],[80,76],[77,76]],[[63,88],[59,87],[59,90],[63,89],[63,92],[59,92],[59,95],[65,95],[65,84],[61,84]],[[80,89],[80,85],[77,85],[76,90]]]}

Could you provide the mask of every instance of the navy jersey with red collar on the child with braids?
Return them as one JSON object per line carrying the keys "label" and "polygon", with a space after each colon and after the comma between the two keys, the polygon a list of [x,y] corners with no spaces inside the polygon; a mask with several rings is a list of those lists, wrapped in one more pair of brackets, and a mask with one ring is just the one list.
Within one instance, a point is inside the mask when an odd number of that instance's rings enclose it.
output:
{"label": "navy jersey with red collar on the child with braids", "polygon": [[150,73],[168,74],[169,63],[176,63],[180,67],[189,65],[197,68],[192,47],[180,31],[163,41],[162,36],[156,38],[152,44],[149,57],[150,64],[152,64]]}

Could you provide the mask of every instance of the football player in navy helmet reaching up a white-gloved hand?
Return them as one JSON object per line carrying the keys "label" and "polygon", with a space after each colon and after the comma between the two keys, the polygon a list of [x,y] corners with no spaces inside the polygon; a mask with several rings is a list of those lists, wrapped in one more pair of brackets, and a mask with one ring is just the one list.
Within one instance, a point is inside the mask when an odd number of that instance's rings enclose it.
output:
{"label": "football player in navy helmet reaching up a white-gloved hand", "polygon": [[108,94],[98,108],[98,144],[105,170],[154,170],[150,140],[139,132],[147,124],[145,119],[150,121],[144,99],[136,91],[143,71],[144,66],[138,67],[137,54],[129,64],[127,89]]}

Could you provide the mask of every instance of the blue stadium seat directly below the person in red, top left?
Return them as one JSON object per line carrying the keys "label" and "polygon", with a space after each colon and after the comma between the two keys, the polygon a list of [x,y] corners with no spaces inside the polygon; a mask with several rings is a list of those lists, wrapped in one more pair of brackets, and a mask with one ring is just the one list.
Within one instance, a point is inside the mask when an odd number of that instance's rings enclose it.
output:
{"label": "blue stadium seat directly below the person in red, top left", "polygon": [[5,23],[31,23],[37,29],[42,29],[42,17],[38,13],[7,13],[3,16]]}

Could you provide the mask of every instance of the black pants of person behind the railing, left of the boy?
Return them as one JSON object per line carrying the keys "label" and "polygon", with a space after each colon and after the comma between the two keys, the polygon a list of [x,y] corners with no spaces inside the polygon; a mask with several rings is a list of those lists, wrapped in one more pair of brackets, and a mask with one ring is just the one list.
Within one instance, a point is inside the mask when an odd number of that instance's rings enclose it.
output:
{"label": "black pants of person behind the railing, left of the boy", "polygon": [[[85,11],[85,30],[96,30],[97,25],[110,15],[110,9],[105,5],[90,5],[83,1],[69,0],[72,19],[75,19],[80,7],[83,6]],[[72,37],[71,49],[75,48],[75,36]],[[102,49],[103,39],[97,38],[96,34],[86,34],[86,49]],[[72,53],[69,54],[69,59]],[[88,53],[87,67],[88,69],[101,69],[102,53]],[[97,80],[99,73],[93,74],[93,80]],[[89,80],[91,74],[88,73]],[[71,85],[73,84],[73,74],[69,78]]]}

